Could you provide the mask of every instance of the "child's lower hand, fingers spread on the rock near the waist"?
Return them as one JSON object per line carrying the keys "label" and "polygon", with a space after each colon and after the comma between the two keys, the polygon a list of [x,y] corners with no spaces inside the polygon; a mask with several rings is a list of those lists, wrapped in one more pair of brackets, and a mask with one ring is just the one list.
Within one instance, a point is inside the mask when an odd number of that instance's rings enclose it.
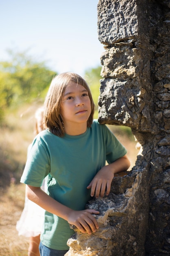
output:
{"label": "child's lower hand, fingers spread on the rock near the waist", "polygon": [[91,235],[99,228],[97,220],[92,214],[99,214],[99,211],[86,209],[83,211],[70,211],[68,223],[76,226],[82,233]]}

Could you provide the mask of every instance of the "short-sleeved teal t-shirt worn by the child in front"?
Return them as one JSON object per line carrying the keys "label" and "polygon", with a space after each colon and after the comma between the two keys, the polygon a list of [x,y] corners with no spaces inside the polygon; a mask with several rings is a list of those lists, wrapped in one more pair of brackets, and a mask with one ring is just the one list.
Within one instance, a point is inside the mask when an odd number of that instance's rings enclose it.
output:
{"label": "short-sleeved teal t-shirt worn by the child in front", "polygon": [[[83,210],[91,199],[87,186],[96,173],[106,161],[112,163],[125,154],[124,146],[97,120],[77,136],[58,137],[47,129],[33,141],[21,182],[39,187],[48,175],[47,193],[73,210]],[[41,242],[46,247],[69,249],[67,241],[72,234],[66,220],[45,212]]]}

